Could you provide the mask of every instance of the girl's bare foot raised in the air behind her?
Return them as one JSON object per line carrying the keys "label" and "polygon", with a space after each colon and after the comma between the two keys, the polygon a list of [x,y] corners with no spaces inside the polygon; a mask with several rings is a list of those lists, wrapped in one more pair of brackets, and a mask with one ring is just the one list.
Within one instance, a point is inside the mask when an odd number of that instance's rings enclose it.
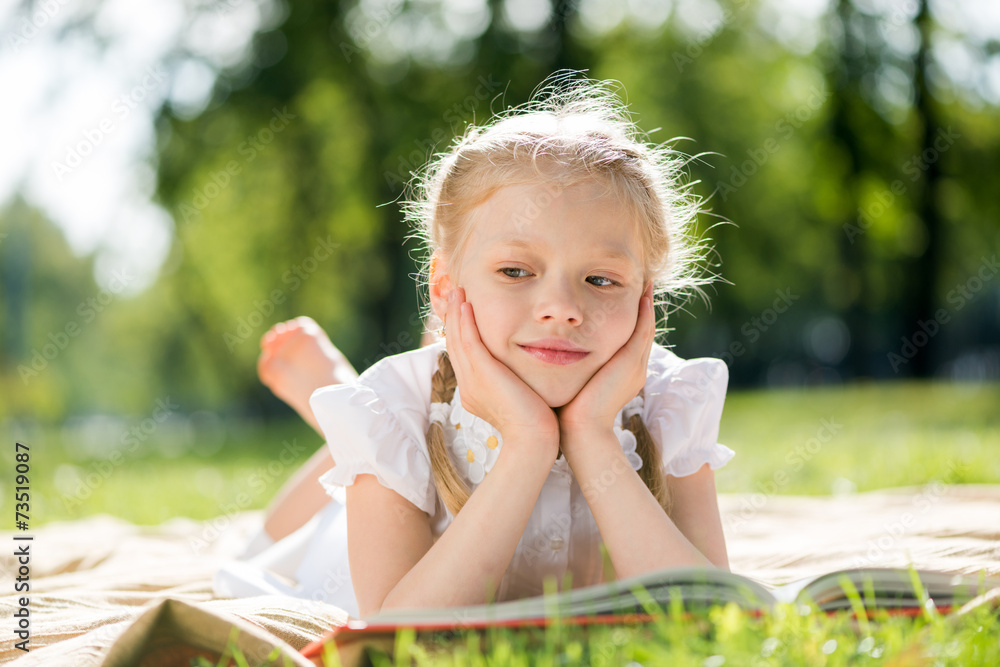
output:
{"label": "girl's bare foot raised in the air behind her", "polygon": [[260,347],[260,381],[317,431],[319,423],[309,407],[312,393],[320,387],[358,378],[351,363],[311,317],[275,324],[261,338]]}

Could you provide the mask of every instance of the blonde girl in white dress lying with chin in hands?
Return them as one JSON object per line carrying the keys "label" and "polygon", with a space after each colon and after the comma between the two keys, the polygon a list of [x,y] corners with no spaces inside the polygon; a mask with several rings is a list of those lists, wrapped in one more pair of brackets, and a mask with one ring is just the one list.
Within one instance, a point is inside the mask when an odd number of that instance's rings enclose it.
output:
{"label": "blonde girl in white dress lying with chin in hands", "polygon": [[356,616],[540,595],[548,577],[728,569],[713,473],[733,456],[716,442],[727,369],[653,342],[655,296],[704,282],[680,167],[589,81],[440,156],[407,213],[442,339],[353,380],[310,320],[265,337],[262,377],[332,455],[302,477],[323,471],[335,500],[285,536],[320,504],[293,483],[265,526],[282,539],[217,593]]}

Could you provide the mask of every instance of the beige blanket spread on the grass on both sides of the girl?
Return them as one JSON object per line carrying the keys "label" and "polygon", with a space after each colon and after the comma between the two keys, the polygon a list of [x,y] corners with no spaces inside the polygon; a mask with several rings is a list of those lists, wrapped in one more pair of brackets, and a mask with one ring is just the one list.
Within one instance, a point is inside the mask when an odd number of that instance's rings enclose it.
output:
{"label": "beige blanket spread on the grass on both sides of the girl", "polygon": [[[930,485],[841,497],[720,496],[734,572],[779,584],[848,567],[1000,574],[1000,486]],[[13,533],[0,556],[0,664],[92,667],[152,605],[174,598],[242,619],[298,650],[346,620],[336,607],[280,597],[213,599],[218,564],[259,513],[157,527],[107,517],[50,524],[30,542],[31,651],[15,647]],[[13,637],[13,639],[12,639]],[[287,648],[286,647],[286,648]]]}

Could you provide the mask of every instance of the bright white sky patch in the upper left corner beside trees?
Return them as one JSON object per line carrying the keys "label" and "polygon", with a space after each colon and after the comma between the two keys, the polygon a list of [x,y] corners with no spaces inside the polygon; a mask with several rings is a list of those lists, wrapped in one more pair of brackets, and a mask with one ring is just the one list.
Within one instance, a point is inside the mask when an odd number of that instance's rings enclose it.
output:
{"label": "bright white sky patch in the upper left corner beside trees", "polygon": [[[45,5],[44,8],[41,5]],[[173,222],[153,203],[153,125],[168,96],[180,115],[204,110],[216,70],[197,60],[168,71],[181,40],[215,66],[244,59],[262,14],[231,0],[190,29],[181,0],[105,0],[93,18],[102,40],[62,34],[94,5],[37,3],[27,16],[0,7],[0,207],[18,193],[63,230],[78,255],[95,255],[104,287],[116,271],[134,276],[127,293],[148,287],[170,249]],[[176,74],[176,76],[175,76]]]}

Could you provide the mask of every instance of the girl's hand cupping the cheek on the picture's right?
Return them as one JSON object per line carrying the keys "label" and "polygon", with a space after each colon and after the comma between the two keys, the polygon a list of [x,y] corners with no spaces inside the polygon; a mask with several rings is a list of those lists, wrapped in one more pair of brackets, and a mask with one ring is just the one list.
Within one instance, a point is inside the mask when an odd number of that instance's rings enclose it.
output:
{"label": "girl's hand cupping the cheek on the picture's right", "polygon": [[626,403],[646,384],[649,351],[656,326],[653,318],[653,284],[639,299],[639,317],[631,338],[590,378],[576,397],[559,408],[563,443],[596,431],[610,431]]}

